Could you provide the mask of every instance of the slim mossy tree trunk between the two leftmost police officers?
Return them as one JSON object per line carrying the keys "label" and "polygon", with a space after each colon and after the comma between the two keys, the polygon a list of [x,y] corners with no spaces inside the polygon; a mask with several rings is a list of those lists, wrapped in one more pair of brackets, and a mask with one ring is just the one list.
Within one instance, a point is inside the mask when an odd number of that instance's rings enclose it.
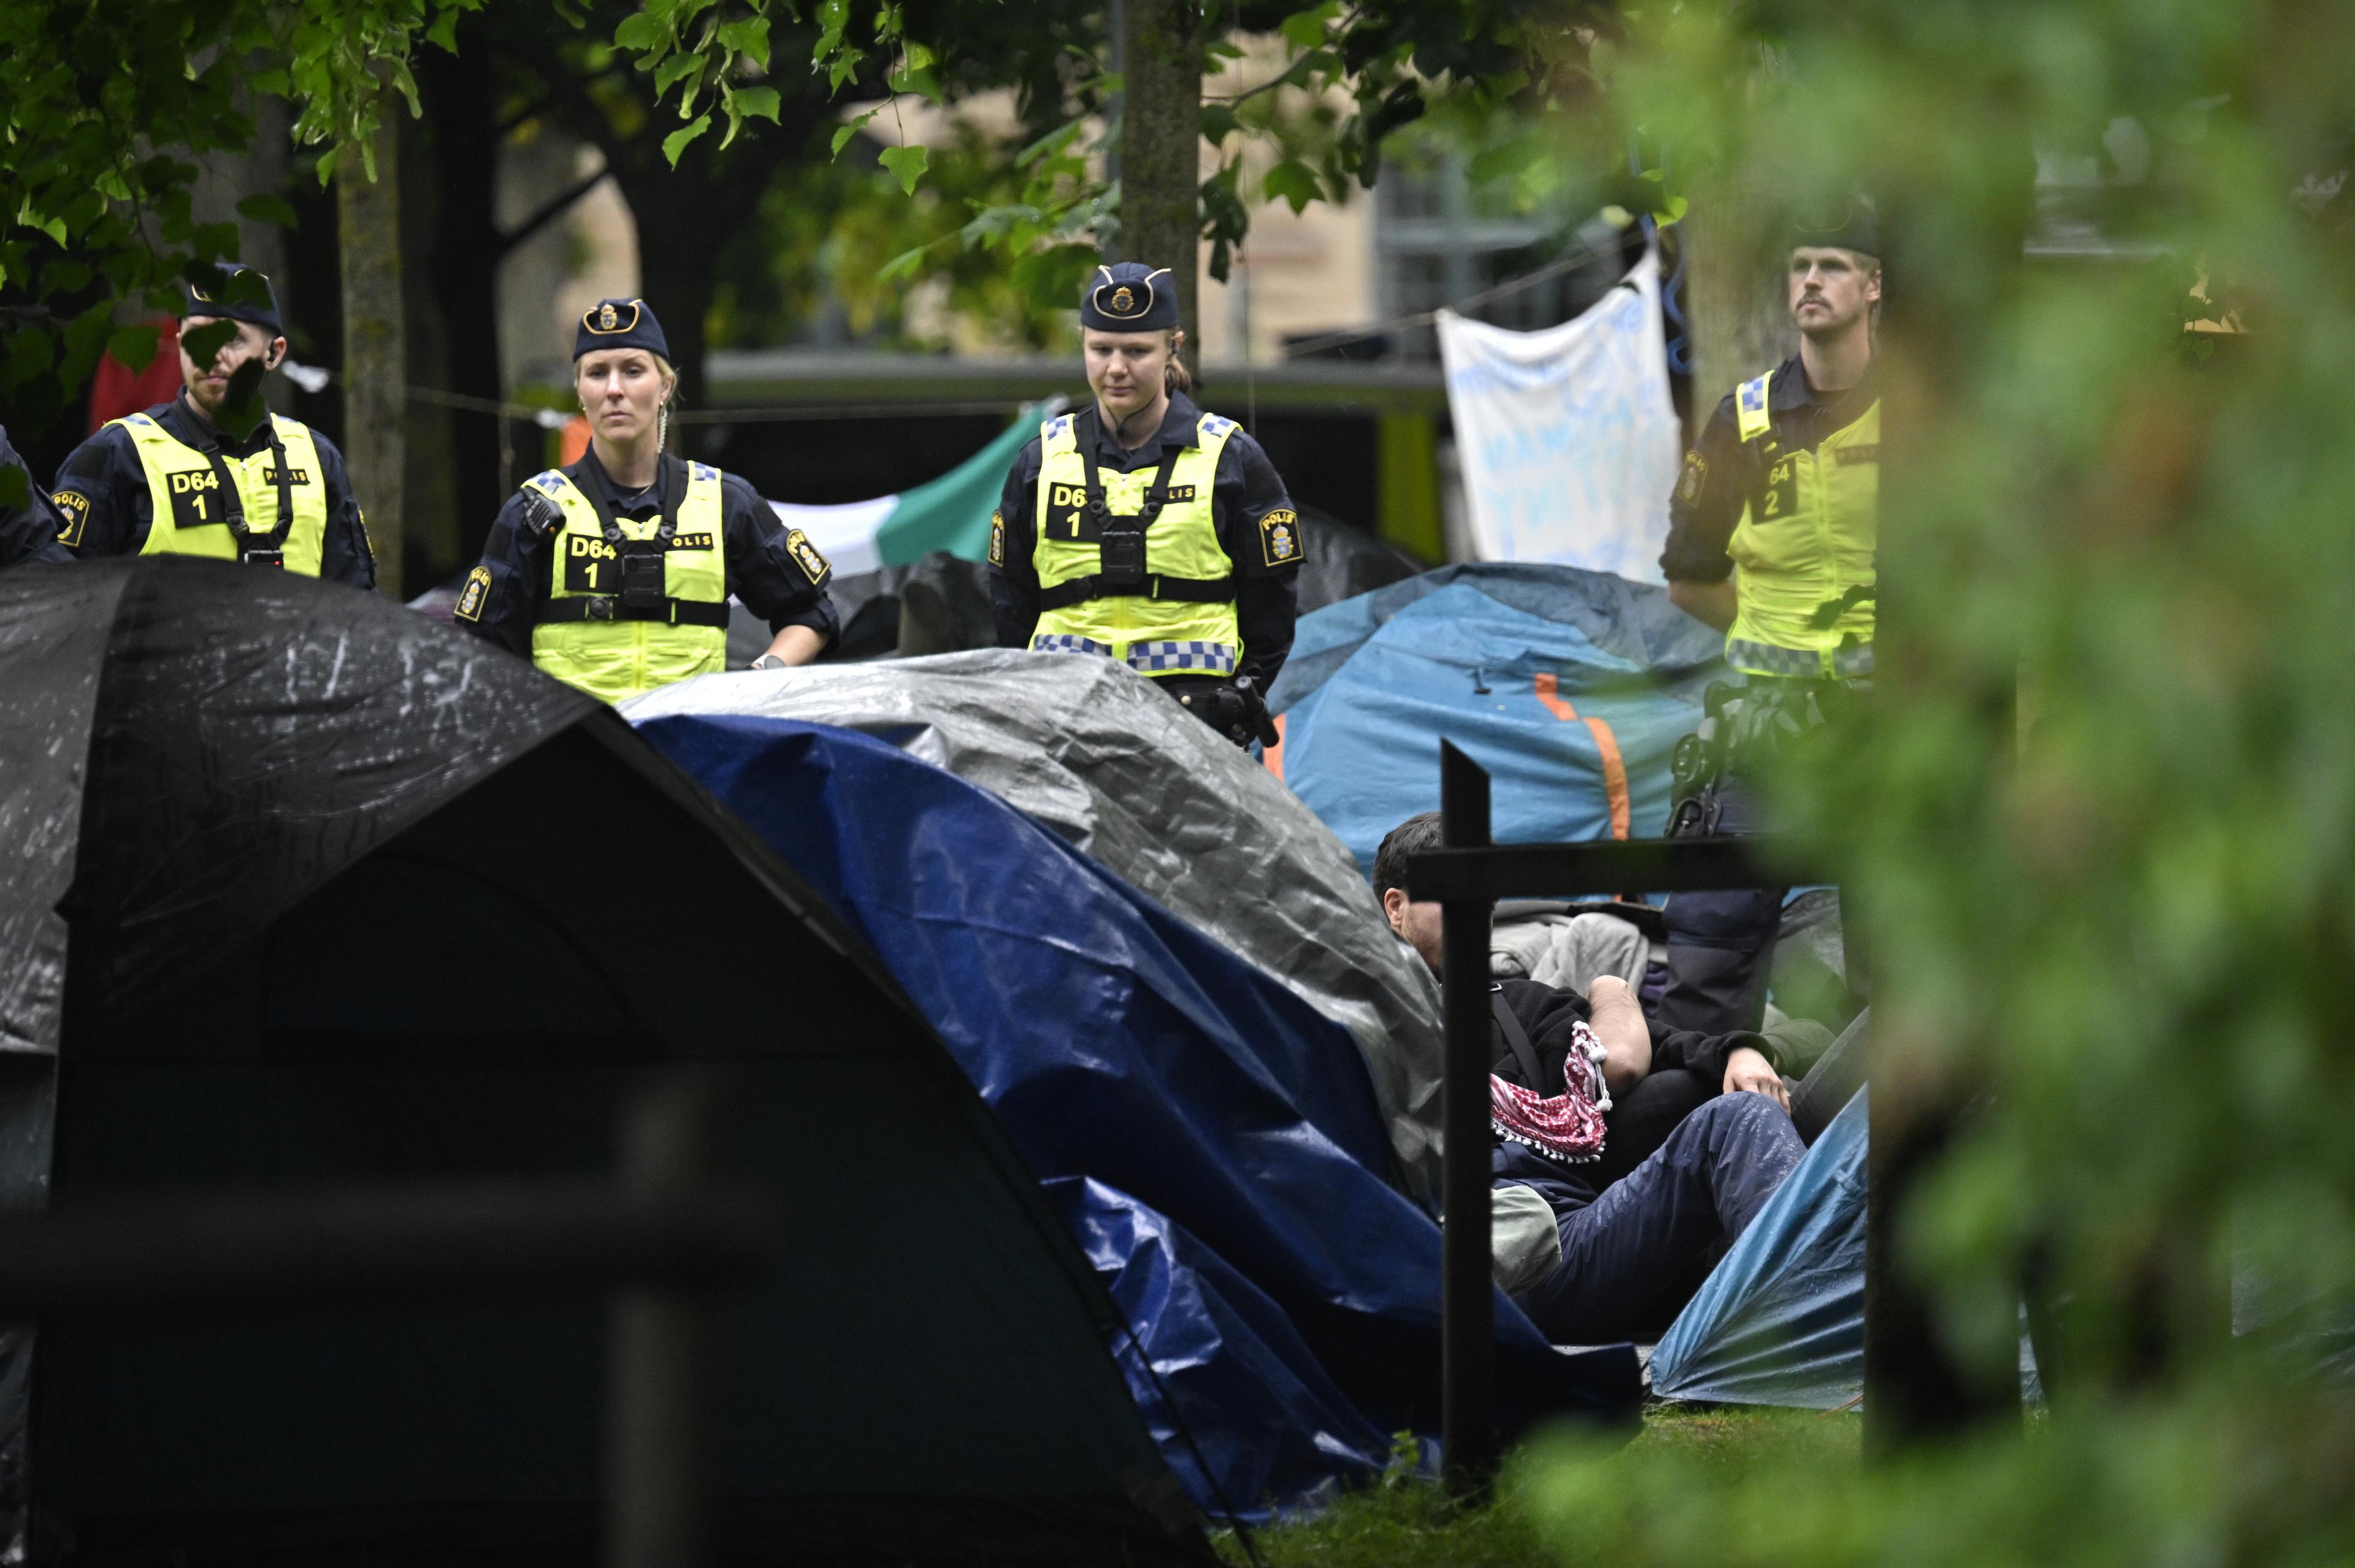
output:
{"label": "slim mossy tree trunk between the two leftmost police officers", "polygon": [[334,165],[337,240],[344,264],[344,466],[367,516],[377,589],[400,598],[400,464],[405,454],[407,353],[400,311],[400,134],[407,106],[384,94],[377,179],[358,144]]}

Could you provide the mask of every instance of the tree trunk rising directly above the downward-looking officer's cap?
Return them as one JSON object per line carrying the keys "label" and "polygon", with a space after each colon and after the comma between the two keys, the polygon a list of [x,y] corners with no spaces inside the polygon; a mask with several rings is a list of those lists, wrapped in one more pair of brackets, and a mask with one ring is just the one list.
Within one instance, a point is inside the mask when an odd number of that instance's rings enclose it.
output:
{"label": "tree trunk rising directly above the downward-looking officer's cap", "polygon": [[1170,268],[1187,344],[1201,344],[1201,14],[1189,0],[1121,9],[1121,257]]}

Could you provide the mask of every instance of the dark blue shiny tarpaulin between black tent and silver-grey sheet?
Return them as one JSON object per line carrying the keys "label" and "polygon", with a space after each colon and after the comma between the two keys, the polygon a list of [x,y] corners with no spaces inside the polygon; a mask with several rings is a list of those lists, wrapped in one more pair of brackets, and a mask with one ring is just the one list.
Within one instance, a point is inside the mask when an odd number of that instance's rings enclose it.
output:
{"label": "dark blue shiny tarpaulin between black tent and silver-grey sheet", "polygon": [[[1382,1172],[1349,1034],[996,796],[848,730],[641,732],[876,949],[1128,1314],[1114,1347],[1196,1500],[1378,1474],[1439,1417],[1439,1227]],[[789,1008],[780,977],[780,1008]],[[874,1158],[890,1158],[890,1128]],[[845,1172],[855,1180],[855,1172]],[[895,1288],[923,1290],[923,1238]],[[1625,1347],[1561,1354],[1502,1295],[1510,1422],[1627,1413]]]}

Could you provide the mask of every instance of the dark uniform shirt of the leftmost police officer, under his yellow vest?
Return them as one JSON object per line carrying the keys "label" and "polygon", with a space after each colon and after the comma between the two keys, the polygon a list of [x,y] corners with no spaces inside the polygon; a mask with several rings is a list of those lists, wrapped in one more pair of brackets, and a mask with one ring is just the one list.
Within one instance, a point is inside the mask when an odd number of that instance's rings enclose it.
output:
{"label": "dark uniform shirt of the leftmost police officer, under his yellow vest", "polygon": [[[271,445],[268,426],[257,424],[245,440],[217,431],[212,421],[188,407],[186,393],[151,407],[148,419],[184,445],[207,450],[219,443],[226,457],[252,457]],[[318,473],[299,476],[297,483],[327,487],[327,537],[320,542],[318,574],[325,582],[374,589],[377,556],[367,544],[360,504],[351,497],[344,454],[318,431],[311,431],[311,443],[318,447]],[[146,469],[139,466],[139,447],[120,424],[108,424],[66,457],[57,471],[52,499],[66,518],[64,544],[82,560],[137,556],[155,525],[155,501],[148,492]],[[254,523],[261,520],[254,518]]]}

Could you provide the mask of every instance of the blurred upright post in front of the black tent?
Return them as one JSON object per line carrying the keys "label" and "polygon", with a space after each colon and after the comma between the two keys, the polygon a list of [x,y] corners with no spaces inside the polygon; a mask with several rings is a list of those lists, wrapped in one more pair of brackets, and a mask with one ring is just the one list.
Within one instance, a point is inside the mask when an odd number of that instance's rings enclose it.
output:
{"label": "blurred upright post in front of the black tent", "polygon": [[[676,1198],[711,1180],[711,1085],[664,1076],[624,1116],[622,1187]],[[709,1290],[638,1285],[612,1297],[605,1406],[605,1566],[699,1568],[709,1540],[714,1316]]]}

